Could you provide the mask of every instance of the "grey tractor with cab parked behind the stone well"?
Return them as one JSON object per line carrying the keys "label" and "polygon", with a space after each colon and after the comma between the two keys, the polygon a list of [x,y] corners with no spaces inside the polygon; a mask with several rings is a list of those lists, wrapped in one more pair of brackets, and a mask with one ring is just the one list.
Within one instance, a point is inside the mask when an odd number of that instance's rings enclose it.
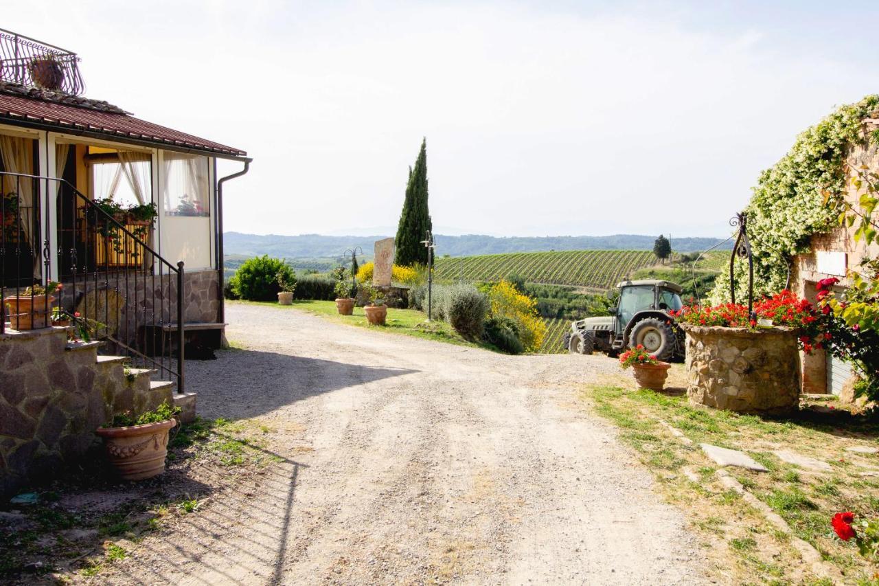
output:
{"label": "grey tractor with cab parked behind the stone well", "polygon": [[679,284],[669,281],[625,281],[616,288],[619,303],[608,310],[610,316],[571,322],[563,341],[571,354],[592,354],[601,350],[617,355],[622,348],[641,344],[657,359],[670,362],[684,356],[684,333],[669,311],[682,303]]}

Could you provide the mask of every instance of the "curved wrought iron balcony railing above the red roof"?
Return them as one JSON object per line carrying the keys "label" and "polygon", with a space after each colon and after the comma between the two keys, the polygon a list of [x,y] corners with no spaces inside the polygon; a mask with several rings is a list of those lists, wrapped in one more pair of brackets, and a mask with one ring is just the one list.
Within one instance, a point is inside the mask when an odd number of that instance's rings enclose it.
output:
{"label": "curved wrought iron balcony railing above the red roof", "polygon": [[76,53],[0,28],[0,80],[78,96],[78,62]]}

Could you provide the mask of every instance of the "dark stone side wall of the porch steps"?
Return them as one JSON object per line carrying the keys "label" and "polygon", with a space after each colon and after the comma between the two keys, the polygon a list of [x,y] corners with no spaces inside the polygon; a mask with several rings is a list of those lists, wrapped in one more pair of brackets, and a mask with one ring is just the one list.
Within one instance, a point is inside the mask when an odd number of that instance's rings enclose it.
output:
{"label": "dark stone side wall of the porch steps", "polygon": [[82,458],[113,415],[171,401],[171,385],[151,389],[149,373],[128,380],[120,359],[98,361],[99,345],[69,344],[60,327],[0,335],[0,494]]}

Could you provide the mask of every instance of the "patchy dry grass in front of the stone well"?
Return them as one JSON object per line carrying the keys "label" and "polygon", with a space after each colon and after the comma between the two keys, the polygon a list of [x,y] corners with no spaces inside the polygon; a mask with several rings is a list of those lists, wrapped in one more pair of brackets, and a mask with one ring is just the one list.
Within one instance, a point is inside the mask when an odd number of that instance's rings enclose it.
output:
{"label": "patchy dry grass in front of the stone well", "polygon": [[[675,368],[679,377],[680,367]],[[841,408],[829,414],[806,408],[793,418],[764,419],[690,407],[680,389],[666,394],[632,390],[631,382],[616,383],[585,387],[583,398],[620,429],[621,440],[655,472],[666,498],[691,516],[706,545],[725,542],[725,547],[711,548],[718,573],[736,583],[829,583],[811,573],[790,545],[789,535],[717,481],[716,465],[699,443],[744,450],[766,465],[769,472],[729,472],[781,515],[796,537],[838,568],[845,583],[879,583],[877,568],[861,558],[854,543],[836,538],[830,526],[833,513],[841,510],[879,516],[879,478],[861,476],[879,470],[879,458],[846,451],[854,445],[875,445],[879,423],[861,421]],[[682,443],[660,420],[693,443]],[[789,465],[773,450],[793,450],[823,460],[832,469],[816,472]]]}

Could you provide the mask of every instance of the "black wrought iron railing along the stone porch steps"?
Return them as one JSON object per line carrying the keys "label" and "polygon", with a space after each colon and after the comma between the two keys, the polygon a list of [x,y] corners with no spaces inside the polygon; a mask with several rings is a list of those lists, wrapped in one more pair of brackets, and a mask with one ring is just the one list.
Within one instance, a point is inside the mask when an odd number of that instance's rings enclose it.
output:
{"label": "black wrought iron railing along the stone porch steps", "polygon": [[[7,319],[33,328],[71,320],[103,351],[184,392],[184,265],[147,244],[153,226],[110,216],[64,179],[0,172],[0,185],[0,333]],[[56,230],[44,230],[53,218]],[[49,283],[53,262],[62,288],[40,296],[33,288]]]}

